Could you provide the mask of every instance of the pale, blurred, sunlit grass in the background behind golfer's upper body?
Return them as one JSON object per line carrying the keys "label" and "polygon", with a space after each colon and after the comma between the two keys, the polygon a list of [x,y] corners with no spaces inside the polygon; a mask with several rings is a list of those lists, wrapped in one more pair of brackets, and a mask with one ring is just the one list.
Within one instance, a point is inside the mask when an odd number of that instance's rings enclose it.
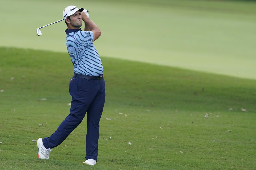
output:
{"label": "pale, blurred, sunlit grass in the background behind golfer's upper body", "polygon": [[36,29],[62,19],[71,3],[101,29],[101,56],[256,79],[255,1],[9,0],[0,6],[0,46],[66,52],[64,22],[41,36]]}

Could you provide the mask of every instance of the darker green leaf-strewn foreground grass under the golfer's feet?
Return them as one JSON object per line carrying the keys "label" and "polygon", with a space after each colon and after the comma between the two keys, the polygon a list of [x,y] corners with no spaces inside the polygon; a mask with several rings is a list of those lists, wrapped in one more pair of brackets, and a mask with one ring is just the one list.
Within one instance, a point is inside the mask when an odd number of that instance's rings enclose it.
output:
{"label": "darker green leaf-strewn foreground grass under the golfer's feet", "polygon": [[38,160],[32,140],[69,114],[70,57],[0,53],[0,169],[255,169],[255,80],[107,57],[97,164],[82,164],[86,118]]}

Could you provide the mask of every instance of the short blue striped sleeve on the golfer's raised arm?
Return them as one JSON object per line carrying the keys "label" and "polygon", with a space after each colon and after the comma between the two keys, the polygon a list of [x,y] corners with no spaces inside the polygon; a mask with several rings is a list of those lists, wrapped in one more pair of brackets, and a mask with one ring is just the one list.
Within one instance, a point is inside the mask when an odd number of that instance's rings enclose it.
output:
{"label": "short blue striped sleeve on the golfer's raised arm", "polygon": [[77,31],[76,43],[80,51],[93,43],[93,32]]}

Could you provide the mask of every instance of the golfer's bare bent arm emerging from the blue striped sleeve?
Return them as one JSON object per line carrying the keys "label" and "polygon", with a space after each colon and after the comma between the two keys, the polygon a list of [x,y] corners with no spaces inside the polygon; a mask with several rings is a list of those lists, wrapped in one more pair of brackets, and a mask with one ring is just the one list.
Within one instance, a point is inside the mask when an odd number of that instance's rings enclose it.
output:
{"label": "golfer's bare bent arm emerging from the blue striped sleeve", "polygon": [[101,36],[101,30],[84,12],[81,12],[81,16],[82,20],[85,22],[84,31],[93,32],[93,41],[95,41],[99,36]]}

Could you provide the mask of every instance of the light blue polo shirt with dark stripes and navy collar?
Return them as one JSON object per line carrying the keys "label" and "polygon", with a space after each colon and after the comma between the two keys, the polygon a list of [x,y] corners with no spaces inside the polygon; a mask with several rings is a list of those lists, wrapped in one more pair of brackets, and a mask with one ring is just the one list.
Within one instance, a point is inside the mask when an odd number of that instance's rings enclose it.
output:
{"label": "light blue polo shirt with dark stripes and navy collar", "polygon": [[93,33],[80,29],[66,29],[67,51],[74,66],[74,72],[83,75],[103,74],[101,58],[93,45]]}

